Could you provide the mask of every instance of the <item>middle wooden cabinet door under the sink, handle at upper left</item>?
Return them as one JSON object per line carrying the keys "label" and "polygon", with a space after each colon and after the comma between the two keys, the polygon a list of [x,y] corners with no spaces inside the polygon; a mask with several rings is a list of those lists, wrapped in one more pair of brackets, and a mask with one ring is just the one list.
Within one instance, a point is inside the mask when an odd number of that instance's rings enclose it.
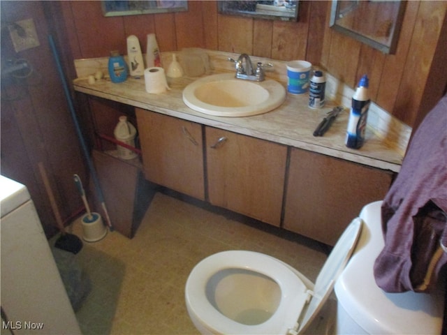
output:
{"label": "middle wooden cabinet door under the sink, handle at upper left", "polygon": [[217,128],[205,129],[210,202],[279,226],[287,148]]}

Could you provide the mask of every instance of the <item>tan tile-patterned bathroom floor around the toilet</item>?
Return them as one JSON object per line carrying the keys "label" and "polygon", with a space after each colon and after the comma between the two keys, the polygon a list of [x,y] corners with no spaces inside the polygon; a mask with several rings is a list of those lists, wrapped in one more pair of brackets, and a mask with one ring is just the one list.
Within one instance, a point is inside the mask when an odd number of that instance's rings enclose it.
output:
{"label": "tan tile-patterned bathroom floor around the toilet", "polygon": [[[82,236],[79,220],[71,232]],[[78,253],[92,283],[76,313],[83,334],[198,334],[184,304],[186,278],[203,258],[232,249],[272,255],[311,281],[327,257],[296,234],[156,193],[133,239],[109,232]]]}

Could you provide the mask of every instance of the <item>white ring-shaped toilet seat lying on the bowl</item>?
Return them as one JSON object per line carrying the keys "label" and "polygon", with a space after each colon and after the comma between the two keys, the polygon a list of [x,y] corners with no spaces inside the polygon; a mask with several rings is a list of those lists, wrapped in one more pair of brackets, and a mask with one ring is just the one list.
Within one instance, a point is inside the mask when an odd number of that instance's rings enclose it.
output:
{"label": "white ring-shaped toilet seat lying on the bowl", "polygon": [[[204,288],[210,276],[222,269],[247,269],[272,278],[281,288],[281,303],[272,317],[260,325],[243,325],[217,311],[208,301]],[[286,334],[289,328],[295,327],[310,297],[305,283],[288,266],[253,251],[223,251],[205,258],[191,271],[185,292],[189,313],[200,315],[207,327],[214,327],[207,331],[218,334]]]}

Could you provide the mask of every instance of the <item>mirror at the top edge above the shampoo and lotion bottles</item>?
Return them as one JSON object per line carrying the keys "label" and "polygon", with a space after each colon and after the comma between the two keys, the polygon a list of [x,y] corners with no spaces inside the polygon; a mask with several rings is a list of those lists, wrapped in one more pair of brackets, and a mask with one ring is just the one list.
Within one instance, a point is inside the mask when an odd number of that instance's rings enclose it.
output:
{"label": "mirror at the top edge above the shampoo and lotion bottles", "polygon": [[101,1],[104,16],[124,16],[183,12],[188,10],[187,0],[105,0]]}

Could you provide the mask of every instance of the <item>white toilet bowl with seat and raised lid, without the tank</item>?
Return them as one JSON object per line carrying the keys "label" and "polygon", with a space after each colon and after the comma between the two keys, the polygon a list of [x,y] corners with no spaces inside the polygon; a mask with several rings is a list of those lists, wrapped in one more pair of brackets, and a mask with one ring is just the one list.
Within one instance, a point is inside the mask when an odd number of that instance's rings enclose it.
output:
{"label": "white toilet bowl with seat and raised lid, without the tank", "polygon": [[205,258],[186,281],[189,316],[202,334],[297,334],[332,292],[353,252],[362,221],[346,228],[315,285],[269,255],[223,251]]}

